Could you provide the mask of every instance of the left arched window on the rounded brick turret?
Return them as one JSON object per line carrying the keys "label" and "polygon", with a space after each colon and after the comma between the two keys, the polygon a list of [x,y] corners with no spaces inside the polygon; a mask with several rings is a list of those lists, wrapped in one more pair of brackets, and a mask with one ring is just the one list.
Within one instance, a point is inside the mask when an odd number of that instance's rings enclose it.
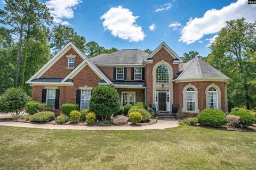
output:
{"label": "left arched window on the rounded brick turret", "polygon": [[195,89],[191,87],[186,90],[186,111],[196,112]]}

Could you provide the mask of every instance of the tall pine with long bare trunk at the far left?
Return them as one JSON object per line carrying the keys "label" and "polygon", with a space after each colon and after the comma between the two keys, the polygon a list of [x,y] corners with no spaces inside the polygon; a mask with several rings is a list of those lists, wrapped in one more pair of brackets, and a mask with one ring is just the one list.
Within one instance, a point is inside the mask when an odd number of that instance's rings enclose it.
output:
{"label": "tall pine with long bare trunk at the far left", "polygon": [[20,78],[21,84],[23,84],[25,69],[22,69],[23,72],[21,72],[21,66],[25,68],[27,61],[26,55],[22,58],[23,39],[25,39],[25,47],[27,47],[33,28],[51,22],[52,16],[46,5],[37,0],[5,0],[4,10],[0,10],[0,18],[0,22],[11,27],[18,39],[17,75],[14,83],[15,87],[18,87]]}

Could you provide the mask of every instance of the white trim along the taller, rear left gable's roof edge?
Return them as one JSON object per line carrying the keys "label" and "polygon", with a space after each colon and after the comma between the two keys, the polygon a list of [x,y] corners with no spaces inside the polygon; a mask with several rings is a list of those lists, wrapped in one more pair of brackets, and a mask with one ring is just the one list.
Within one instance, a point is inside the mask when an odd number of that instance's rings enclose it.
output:
{"label": "white trim along the taller, rear left gable's roof edge", "polygon": [[47,62],[40,70],[38,70],[26,83],[31,83],[31,80],[41,77],[55,62],[57,62],[60,57],[62,57],[65,53],[68,52],[70,48],[75,50],[75,52],[85,60],[86,55],[81,52],[73,43],[69,42],[65,47],[63,47],[54,57],[51,58],[49,62]]}

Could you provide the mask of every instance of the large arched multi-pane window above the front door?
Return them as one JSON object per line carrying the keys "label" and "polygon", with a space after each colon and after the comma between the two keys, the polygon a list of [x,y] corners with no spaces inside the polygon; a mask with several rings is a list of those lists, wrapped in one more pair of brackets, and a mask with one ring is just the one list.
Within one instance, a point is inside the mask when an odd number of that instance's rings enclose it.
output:
{"label": "large arched multi-pane window above the front door", "polygon": [[162,64],[156,69],[156,82],[157,83],[169,83],[169,68]]}

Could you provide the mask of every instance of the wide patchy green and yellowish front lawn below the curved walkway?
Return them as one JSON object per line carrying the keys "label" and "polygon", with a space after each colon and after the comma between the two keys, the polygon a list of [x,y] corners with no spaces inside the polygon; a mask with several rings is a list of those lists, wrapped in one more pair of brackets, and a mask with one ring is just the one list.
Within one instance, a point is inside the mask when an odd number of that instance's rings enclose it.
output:
{"label": "wide patchy green and yellowish front lawn below the curved walkway", "polygon": [[0,169],[256,169],[256,133],[0,126]]}

